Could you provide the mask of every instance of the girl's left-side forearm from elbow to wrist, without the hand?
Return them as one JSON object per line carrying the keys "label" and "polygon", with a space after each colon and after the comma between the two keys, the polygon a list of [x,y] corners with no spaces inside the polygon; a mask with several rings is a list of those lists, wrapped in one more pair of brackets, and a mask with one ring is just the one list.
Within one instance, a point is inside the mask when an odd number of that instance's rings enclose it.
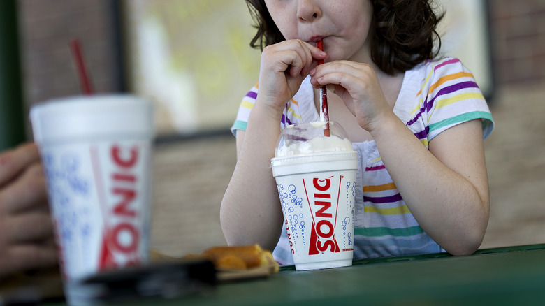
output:
{"label": "girl's left-side forearm from elbow to wrist, without the hand", "polygon": [[270,169],[279,120],[256,101],[247,131],[237,131],[237,164],[221,201],[221,229],[228,245],[259,244],[273,250],[282,228],[275,178]]}

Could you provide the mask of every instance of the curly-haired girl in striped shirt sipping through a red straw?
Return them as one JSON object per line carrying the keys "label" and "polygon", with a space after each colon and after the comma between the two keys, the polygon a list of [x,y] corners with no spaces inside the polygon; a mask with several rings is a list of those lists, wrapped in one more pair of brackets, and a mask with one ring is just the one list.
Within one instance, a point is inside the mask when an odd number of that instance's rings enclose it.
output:
{"label": "curly-haired girl in striped shirt sipping through a red straw", "polygon": [[256,85],[243,99],[232,128],[238,161],[221,203],[228,244],[258,243],[293,264],[270,159],[285,125],[319,121],[327,85],[330,120],[360,157],[354,259],[472,254],[488,224],[483,139],[493,120],[467,68],[434,60],[441,18],[430,1],[247,4],[258,22],[251,45],[263,52],[259,93]]}

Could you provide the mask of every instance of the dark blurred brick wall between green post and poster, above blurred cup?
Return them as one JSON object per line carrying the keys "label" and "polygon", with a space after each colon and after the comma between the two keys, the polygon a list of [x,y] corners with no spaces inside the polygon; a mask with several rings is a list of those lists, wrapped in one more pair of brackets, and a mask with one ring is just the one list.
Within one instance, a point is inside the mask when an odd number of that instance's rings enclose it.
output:
{"label": "dark blurred brick wall between green post and poster, above blurred cup", "polygon": [[109,0],[18,0],[25,104],[81,93],[69,48],[78,38],[95,92],[119,90]]}

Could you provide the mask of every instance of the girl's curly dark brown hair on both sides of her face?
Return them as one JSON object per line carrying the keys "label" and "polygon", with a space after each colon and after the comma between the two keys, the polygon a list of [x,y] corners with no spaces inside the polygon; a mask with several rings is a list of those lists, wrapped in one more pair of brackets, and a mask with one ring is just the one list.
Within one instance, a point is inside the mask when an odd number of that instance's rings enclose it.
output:
{"label": "girl's curly dark brown hair on both sides of her face", "polygon": [[[435,13],[433,0],[370,0],[371,58],[390,75],[405,72],[439,54],[441,38],[435,28],[444,12]],[[265,1],[246,0],[257,33],[250,46],[263,50],[285,38],[270,16]],[[435,48],[434,43],[437,42]]]}

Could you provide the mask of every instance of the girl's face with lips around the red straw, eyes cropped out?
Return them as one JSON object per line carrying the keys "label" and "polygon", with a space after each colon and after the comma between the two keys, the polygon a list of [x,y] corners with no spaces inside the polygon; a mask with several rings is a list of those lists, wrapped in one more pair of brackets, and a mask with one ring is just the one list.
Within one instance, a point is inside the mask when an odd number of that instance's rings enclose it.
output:
{"label": "girl's face with lips around the red straw, eyes cropped out", "polygon": [[370,62],[370,0],[265,0],[286,39],[324,40],[328,61]]}

